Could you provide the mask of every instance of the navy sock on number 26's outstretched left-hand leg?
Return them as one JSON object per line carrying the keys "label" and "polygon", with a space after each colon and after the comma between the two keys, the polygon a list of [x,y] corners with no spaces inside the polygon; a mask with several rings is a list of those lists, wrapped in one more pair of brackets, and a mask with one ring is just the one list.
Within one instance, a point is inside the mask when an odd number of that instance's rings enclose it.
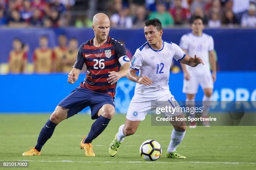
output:
{"label": "navy sock on number 26's outstretched left-hand leg", "polygon": [[38,150],[39,152],[41,151],[46,141],[51,138],[51,135],[53,134],[56,125],[58,124],[51,122],[50,119],[47,120],[46,124],[44,125],[38,136],[37,144],[35,146],[36,150]]}

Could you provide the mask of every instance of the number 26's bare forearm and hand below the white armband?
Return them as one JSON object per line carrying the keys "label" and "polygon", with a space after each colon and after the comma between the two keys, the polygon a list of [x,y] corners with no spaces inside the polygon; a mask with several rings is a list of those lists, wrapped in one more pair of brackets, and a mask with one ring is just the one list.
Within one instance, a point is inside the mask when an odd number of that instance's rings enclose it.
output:
{"label": "number 26's bare forearm and hand below the white armband", "polygon": [[121,68],[120,71],[115,72],[115,71],[109,71],[109,75],[108,75],[108,83],[111,83],[111,85],[115,84],[120,78],[122,77],[126,77],[128,69],[129,69],[129,65],[130,62],[126,62],[124,63]]}

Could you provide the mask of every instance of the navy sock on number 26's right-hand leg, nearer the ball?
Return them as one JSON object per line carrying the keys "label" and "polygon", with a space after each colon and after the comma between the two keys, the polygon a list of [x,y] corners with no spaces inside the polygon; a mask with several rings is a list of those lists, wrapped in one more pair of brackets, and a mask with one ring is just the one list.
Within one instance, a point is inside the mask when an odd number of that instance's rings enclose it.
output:
{"label": "navy sock on number 26's right-hand leg, nearer the ball", "polygon": [[84,143],[92,143],[92,140],[97,138],[97,136],[100,135],[105,130],[109,122],[110,119],[100,115],[100,117],[98,117],[97,120],[95,120],[95,122],[92,123],[91,130],[85,138]]}

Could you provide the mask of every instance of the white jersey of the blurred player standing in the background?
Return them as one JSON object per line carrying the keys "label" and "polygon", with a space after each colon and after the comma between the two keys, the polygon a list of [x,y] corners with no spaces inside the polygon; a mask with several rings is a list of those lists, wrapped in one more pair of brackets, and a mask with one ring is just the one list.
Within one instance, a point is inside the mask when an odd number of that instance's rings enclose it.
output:
{"label": "white jersey of the blurred player standing in the background", "polygon": [[186,65],[189,72],[204,73],[210,71],[209,52],[214,49],[213,38],[203,33],[201,36],[194,35],[192,32],[181,37],[179,46],[187,50],[189,56],[200,57],[205,65],[199,64],[197,67]]}

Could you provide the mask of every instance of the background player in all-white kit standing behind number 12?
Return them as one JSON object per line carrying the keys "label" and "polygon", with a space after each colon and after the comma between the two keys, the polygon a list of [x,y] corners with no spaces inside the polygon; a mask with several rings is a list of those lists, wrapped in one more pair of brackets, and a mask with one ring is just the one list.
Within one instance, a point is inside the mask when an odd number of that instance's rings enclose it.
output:
{"label": "background player in all-white kit standing behind number 12", "polygon": [[[211,101],[213,83],[216,81],[216,61],[213,38],[210,35],[203,33],[204,25],[201,17],[195,17],[192,23],[192,32],[181,37],[179,46],[188,55],[195,54],[202,58],[205,65],[198,67],[188,67],[181,64],[184,72],[184,81],[182,92],[186,93],[186,101],[189,105],[195,105],[195,95],[197,94],[198,86],[200,85],[204,91],[202,99],[204,110],[202,117],[207,117],[209,111],[209,101]],[[210,60],[210,62],[209,62]],[[210,65],[212,74],[210,72]],[[189,115],[195,116],[195,115]],[[210,123],[202,122],[204,126],[209,127]],[[195,128],[196,122],[191,122],[189,128]]]}

